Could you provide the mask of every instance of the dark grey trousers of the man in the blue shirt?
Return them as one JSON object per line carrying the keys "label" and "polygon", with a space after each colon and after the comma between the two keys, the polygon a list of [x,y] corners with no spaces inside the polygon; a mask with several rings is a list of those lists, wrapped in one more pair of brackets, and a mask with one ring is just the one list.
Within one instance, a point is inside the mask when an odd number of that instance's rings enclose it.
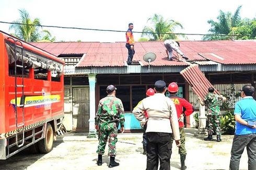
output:
{"label": "dark grey trousers of the man in the blue shirt", "polygon": [[229,169],[239,169],[240,158],[245,147],[248,155],[248,170],[256,169],[256,133],[234,136]]}

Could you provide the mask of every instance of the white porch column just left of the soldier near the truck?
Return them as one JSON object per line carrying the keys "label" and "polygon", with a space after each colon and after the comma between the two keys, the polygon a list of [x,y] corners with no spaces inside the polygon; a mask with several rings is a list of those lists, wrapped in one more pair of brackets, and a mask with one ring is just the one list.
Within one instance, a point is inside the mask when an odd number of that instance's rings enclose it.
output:
{"label": "white porch column just left of the soldier near the truck", "polygon": [[90,118],[89,118],[89,135],[87,138],[96,138],[95,129],[95,83],[96,74],[89,74],[89,87],[90,87]]}

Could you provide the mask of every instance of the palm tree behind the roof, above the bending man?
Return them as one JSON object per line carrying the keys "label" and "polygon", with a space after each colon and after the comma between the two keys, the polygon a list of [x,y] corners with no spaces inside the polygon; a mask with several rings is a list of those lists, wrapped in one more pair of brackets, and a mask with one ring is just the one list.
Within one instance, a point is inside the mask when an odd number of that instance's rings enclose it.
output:
{"label": "palm tree behind the roof, above the bending man", "polygon": [[[147,35],[150,40],[164,41],[167,39],[178,39],[177,34],[173,34],[177,27],[183,29],[180,22],[174,20],[165,20],[164,17],[158,14],[154,14],[152,18],[147,21],[152,23],[152,27],[145,26],[142,30],[143,35]],[[184,37],[184,35],[181,35]]]}

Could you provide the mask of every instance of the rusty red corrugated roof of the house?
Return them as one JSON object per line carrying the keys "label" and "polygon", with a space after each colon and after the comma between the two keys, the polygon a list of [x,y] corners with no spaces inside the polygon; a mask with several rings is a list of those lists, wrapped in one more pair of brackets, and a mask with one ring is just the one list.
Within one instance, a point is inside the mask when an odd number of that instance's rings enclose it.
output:
{"label": "rusty red corrugated roof of the house", "polygon": [[[78,67],[114,67],[125,66],[127,49],[125,42],[37,42],[32,43],[54,55],[85,54]],[[170,62],[167,60],[164,42],[146,41],[135,43],[133,60],[141,61],[144,66],[143,55],[147,52],[156,53],[156,60],[152,66],[185,66],[184,62]],[[208,61],[221,64],[256,64],[255,41],[181,41],[180,50],[190,61]],[[173,55],[177,56],[174,51]]]}

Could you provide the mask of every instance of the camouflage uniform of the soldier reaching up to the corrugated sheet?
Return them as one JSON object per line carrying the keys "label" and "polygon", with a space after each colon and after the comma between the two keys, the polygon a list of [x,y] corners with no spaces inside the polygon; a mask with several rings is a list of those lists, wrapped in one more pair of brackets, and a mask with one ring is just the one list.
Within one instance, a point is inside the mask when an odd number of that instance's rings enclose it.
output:
{"label": "camouflage uniform of the soldier reaching up to the corrugated sheet", "polygon": [[220,129],[220,101],[219,95],[208,93],[204,99],[207,107],[207,131],[208,135],[213,135],[214,130],[216,135],[221,135]]}

